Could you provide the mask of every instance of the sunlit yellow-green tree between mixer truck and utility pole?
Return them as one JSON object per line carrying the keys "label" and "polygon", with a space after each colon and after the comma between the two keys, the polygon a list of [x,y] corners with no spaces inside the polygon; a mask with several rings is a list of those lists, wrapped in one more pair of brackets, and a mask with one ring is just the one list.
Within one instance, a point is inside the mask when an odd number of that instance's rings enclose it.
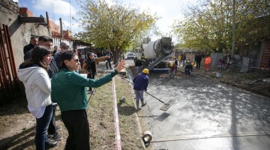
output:
{"label": "sunlit yellow-green tree between mixer truck and utility pole", "polygon": [[231,27],[228,14],[227,1],[202,1],[198,6],[188,6],[185,21],[176,22],[174,32],[183,39],[185,47],[206,52],[228,50]]}

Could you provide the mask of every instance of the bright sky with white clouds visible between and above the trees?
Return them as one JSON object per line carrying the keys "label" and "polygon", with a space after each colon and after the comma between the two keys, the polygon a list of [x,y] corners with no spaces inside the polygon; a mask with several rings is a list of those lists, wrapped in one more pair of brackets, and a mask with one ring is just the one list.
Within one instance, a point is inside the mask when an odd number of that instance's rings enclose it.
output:
{"label": "bright sky with white clouds visible between and above the trees", "polygon": [[[79,23],[73,21],[71,17],[76,18],[76,12],[80,11],[80,6],[77,5],[75,0],[13,0],[18,2],[18,6],[27,7],[28,10],[33,12],[33,15],[38,17],[40,15],[46,16],[45,12],[48,12],[48,16],[55,24],[60,25],[59,18],[63,21],[63,30],[70,30],[72,34],[80,31]],[[112,4],[110,0],[108,4]],[[171,25],[175,19],[183,19],[183,8],[187,4],[195,4],[196,0],[119,0],[126,5],[139,8],[141,11],[149,10],[153,15],[157,13],[158,17],[161,17],[157,22],[158,29],[162,33],[170,33]],[[71,16],[71,17],[70,17]],[[153,36],[151,41],[158,40],[161,37]],[[177,41],[173,37],[173,41]]]}

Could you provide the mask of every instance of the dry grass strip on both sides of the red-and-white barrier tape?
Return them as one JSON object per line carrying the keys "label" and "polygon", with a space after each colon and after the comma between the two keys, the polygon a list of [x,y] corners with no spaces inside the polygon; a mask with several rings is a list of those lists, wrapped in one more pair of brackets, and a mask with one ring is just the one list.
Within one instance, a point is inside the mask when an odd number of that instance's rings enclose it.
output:
{"label": "dry grass strip on both sides of the red-and-white barrier tape", "polygon": [[[134,93],[119,76],[114,77],[121,136],[121,149],[144,149],[136,120]],[[112,82],[99,87],[90,98],[87,113],[90,121],[91,149],[115,149]],[[120,101],[124,97],[125,101]]]}

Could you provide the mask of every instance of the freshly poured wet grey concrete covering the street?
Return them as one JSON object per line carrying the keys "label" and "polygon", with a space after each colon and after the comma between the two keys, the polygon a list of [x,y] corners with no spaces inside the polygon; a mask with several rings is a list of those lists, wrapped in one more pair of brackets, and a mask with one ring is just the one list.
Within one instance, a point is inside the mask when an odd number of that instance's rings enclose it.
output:
{"label": "freshly poured wet grey concrete covering the street", "polygon": [[138,113],[147,149],[270,149],[270,98],[199,76],[149,75],[147,105]]}

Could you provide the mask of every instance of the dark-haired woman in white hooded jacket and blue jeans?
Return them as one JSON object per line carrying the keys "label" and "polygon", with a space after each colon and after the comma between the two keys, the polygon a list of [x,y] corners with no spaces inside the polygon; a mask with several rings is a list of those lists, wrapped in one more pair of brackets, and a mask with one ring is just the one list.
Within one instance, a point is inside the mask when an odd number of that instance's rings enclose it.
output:
{"label": "dark-haired woman in white hooded jacket and blue jeans", "polygon": [[23,62],[18,69],[18,79],[26,88],[28,110],[36,117],[36,149],[50,148],[57,144],[50,142],[46,135],[53,114],[51,84],[47,73],[51,59],[48,48],[37,46],[33,48],[31,59]]}

